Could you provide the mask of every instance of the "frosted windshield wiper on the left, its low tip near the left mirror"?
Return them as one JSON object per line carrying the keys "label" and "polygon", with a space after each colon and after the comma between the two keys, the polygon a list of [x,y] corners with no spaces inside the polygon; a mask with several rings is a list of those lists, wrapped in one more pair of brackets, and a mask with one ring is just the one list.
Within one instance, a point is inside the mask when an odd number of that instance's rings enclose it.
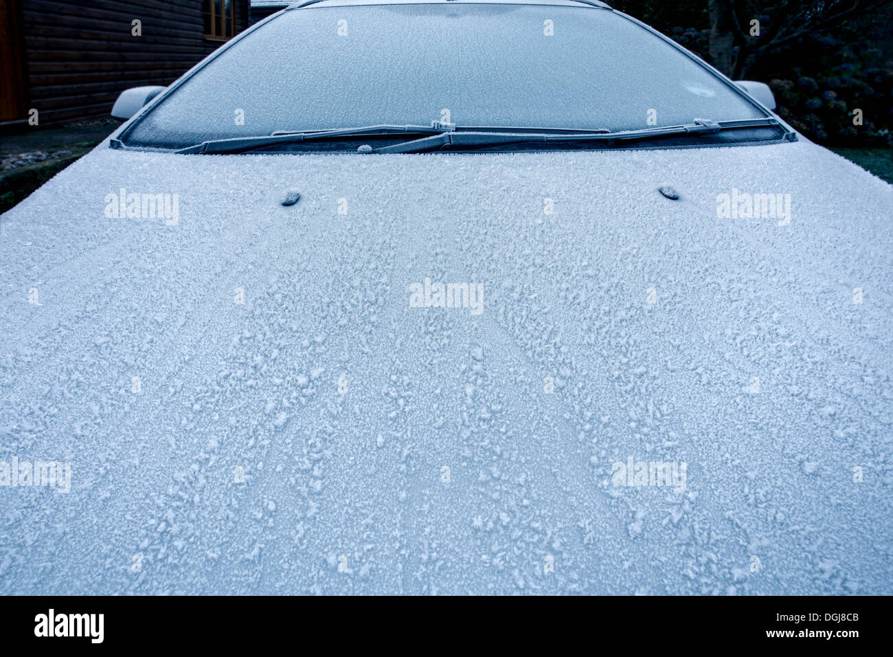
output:
{"label": "frosted windshield wiper on the left, its low tip near the left mirror", "polygon": [[331,130],[285,132],[277,131],[271,135],[255,137],[233,137],[231,139],[211,139],[186,148],[179,148],[174,153],[185,155],[223,155],[227,153],[243,153],[256,148],[294,144],[300,141],[328,139],[334,137],[365,137],[368,135],[439,135],[455,130],[452,123],[431,122],[431,125],[366,125],[361,128],[334,128]]}

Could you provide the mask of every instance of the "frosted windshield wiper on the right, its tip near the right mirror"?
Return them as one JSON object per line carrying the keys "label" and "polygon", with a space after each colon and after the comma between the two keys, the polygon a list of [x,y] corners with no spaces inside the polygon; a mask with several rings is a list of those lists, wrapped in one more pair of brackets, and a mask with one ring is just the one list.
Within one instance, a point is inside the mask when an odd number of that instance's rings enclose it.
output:
{"label": "frosted windshield wiper on the right, its tip near the right mirror", "polygon": [[[714,122],[708,119],[695,119],[685,125],[673,125],[664,128],[646,128],[635,131],[580,131],[562,133],[540,132],[445,132],[422,139],[413,139],[393,146],[371,148],[368,153],[422,153],[437,148],[449,147],[488,147],[505,146],[506,144],[522,144],[530,142],[629,142],[642,139],[660,139],[680,135],[705,135],[722,131],[745,128],[772,127],[781,128],[775,119],[746,119],[742,121]],[[791,133],[793,134],[793,133]]]}

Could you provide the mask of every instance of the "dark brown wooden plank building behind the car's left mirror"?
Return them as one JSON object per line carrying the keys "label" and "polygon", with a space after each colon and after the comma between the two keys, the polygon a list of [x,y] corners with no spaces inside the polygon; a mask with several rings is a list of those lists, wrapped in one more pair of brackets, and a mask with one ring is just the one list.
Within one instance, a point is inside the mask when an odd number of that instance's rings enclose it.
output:
{"label": "dark brown wooden plank building behind the car's left mirror", "polygon": [[0,126],[107,116],[246,29],[249,0],[0,0]]}

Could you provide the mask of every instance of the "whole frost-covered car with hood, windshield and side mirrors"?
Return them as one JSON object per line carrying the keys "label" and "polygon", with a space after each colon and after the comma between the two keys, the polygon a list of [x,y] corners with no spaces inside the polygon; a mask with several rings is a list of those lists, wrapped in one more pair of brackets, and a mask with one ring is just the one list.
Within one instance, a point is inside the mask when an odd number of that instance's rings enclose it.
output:
{"label": "whole frost-covered car with hood, windshield and side mirrors", "polygon": [[0,217],[4,594],[889,594],[893,186],[773,107],[595,0],[125,91]]}

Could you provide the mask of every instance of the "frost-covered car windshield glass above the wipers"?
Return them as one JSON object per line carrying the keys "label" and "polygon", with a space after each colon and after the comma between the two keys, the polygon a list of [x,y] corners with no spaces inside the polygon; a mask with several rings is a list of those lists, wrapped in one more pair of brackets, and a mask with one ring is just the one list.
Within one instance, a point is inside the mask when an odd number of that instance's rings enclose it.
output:
{"label": "frost-covered car windshield glass above the wipers", "polygon": [[555,4],[281,13],[146,114],[129,147],[371,125],[640,130],[764,117],[621,14]]}

